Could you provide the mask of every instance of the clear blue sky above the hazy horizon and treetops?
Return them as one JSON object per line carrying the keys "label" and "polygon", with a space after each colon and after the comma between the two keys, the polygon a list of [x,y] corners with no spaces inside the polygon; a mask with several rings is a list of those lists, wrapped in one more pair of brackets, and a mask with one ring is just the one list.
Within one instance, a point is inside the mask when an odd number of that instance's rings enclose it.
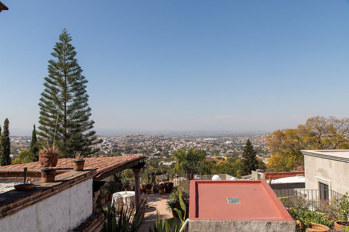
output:
{"label": "clear blue sky above the hazy horizon and treetops", "polygon": [[348,117],[348,1],[8,1],[0,121],[29,129],[63,28],[95,126],[276,130]]}

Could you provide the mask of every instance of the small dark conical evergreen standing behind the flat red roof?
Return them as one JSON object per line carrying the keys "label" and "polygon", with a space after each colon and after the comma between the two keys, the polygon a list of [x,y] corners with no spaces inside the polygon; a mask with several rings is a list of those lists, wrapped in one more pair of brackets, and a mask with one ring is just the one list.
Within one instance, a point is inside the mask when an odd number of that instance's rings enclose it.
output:
{"label": "small dark conical evergreen standing behind the flat red roof", "polygon": [[241,157],[242,175],[251,174],[251,171],[255,171],[258,168],[258,160],[256,155],[257,153],[254,151],[251,140],[247,139]]}

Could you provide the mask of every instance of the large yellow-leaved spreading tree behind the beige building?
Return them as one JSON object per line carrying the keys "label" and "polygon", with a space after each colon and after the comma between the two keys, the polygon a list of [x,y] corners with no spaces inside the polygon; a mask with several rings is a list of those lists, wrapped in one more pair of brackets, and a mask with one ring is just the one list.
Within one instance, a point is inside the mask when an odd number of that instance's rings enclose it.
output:
{"label": "large yellow-leaved spreading tree behind the beige building", "polygon": [[295,161],[304,160],[300,150],[348,149],[349,118],[311,117],[296,129],[274,131],[266,142],[272,155],[267,170],[291,171]]}

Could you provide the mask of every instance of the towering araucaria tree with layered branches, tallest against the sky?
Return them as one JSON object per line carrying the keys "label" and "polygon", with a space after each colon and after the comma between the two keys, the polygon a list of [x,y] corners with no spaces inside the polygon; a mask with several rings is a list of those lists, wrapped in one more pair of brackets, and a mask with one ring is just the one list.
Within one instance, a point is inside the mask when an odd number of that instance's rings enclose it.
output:
{"label": "towering araucaria tree with layered branches, tallest against the sky", "polygon": [[66,29],[62,30],[59,40],[51,53],[54,59],[49,60],[49,75],[44,78],[45,89],[39,103],[39,141],[52,144],[55,138],[61,157],[73,157],[74,150],[89,155],[98,150],[90,146],[102,140],[92,130],[95,122],[90,120],[88,80],[75,59],[75,47],[70,44],[72,37]]}

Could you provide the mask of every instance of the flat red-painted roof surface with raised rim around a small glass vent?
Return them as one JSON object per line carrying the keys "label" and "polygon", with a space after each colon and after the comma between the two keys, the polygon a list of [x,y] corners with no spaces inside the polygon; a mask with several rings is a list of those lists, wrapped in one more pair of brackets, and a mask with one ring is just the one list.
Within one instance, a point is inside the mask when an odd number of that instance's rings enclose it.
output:
{"label": "flat red-painted roof surface with raised rim around a small glass vent", "polygon": [[189,208],[191,220],[294,221],[265,180],[192,180]]}

